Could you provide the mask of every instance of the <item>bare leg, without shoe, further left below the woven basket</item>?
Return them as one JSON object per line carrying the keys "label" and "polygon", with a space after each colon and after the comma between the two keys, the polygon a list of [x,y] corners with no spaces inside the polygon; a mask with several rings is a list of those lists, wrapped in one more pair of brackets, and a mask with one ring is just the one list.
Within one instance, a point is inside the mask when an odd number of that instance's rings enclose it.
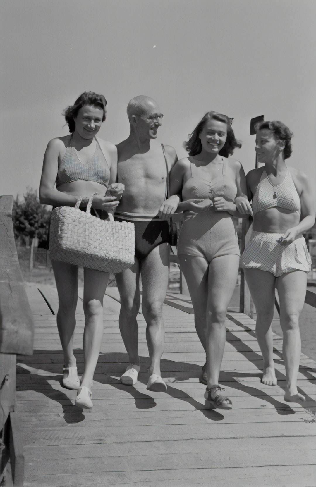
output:
{"label": "bare leg, without shoe, further left below the woven basket", "polygon": [[75,309],[78,300],[78,267],[52,260],[58,293],[57,328],[64,354],[64,366],[75,367],[73,352]]}

